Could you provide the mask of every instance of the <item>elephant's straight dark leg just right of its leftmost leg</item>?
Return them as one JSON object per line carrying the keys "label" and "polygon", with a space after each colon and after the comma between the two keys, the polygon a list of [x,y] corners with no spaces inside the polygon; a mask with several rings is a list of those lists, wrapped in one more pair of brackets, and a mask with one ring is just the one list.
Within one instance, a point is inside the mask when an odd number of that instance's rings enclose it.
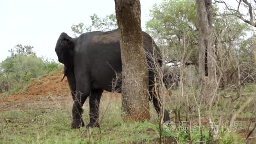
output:
{"label": "elephant's straight dark leg just right of its leftmost leg", "polygon": [[99,127],[99,103],[101,100],[101,94],[103,90],[91,90],[91,95],[89,97],[90,105],[90,123],[86,127]]}

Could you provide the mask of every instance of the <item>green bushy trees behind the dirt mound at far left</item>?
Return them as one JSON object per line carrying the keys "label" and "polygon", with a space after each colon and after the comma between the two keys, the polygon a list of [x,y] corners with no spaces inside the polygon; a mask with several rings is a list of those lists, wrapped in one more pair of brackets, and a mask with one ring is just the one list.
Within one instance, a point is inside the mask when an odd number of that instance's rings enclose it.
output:
{"label": "green bushy trees behind the dirt mound at far left", "polygon": [[31,78],[61,67],[56,61],[37,57],[33,48],[21,44],[11,48],[11,56],[0,63],[0,82],[8,83],[10,89],[18,89]]}

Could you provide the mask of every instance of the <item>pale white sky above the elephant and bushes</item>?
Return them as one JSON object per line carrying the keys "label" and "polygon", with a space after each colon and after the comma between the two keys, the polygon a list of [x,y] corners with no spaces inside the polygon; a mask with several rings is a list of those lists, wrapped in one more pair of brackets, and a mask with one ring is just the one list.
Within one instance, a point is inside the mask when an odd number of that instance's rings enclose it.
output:
{"label": "pale white sky above the elephant and bushes", "polygon": [[[162,0],[140,0],[141,27],[149,20],[149,9]],[[57,60],[54,51],[61,32],[74,37],[72,24],[91,25],[90,16],[115,13],[114,0],[0,0],[0,61],[17,44],[32,45],[37,56]]]}

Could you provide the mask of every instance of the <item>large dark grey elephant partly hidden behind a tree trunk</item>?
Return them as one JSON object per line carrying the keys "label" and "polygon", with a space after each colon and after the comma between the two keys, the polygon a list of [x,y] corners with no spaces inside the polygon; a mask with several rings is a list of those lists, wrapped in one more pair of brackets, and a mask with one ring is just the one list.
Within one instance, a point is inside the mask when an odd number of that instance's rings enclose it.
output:
{"label": "large dark grey elephant partly hidden behind a tree trunk", "polygon": [[[157,113],[161,112],[161,100],[155,95],[155,71],[152,66],[156,61],[159,66],[163,60],[160,49],[152,37],[142,32],[144,49],[149,65],[149,100]],[[85,126],[81,114],[83,104],[89,97],[90,122],[87,127],[99,127],[99,103],[102,92],[112,92],[112,80],[117,73],[122,73],[122,61],[118,29],[108,32],[87,32],[79,37],[69,37],[62,32],[57,40],[55,52],[60,63],[64,64],[64,77],[67,77],[74,100],[72,108],[72,128]],[[152,60],[152,56],[157,57]],[[121,80],[118,85],[121,85]],[[118,87],[118,86],[117,86]],[[120,87],[115,88],[120,89]],[[121,91],[118,91],[121,92]],[[170,120],[168,111],[164,110],[164,121]]]}

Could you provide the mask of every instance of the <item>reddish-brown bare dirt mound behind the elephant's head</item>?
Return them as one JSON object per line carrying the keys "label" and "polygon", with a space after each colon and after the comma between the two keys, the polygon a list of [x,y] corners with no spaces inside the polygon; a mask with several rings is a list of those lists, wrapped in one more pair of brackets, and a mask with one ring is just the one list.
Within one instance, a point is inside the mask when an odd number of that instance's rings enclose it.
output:
{"label": "reddish-brown bare dirt mound behind the elephant's head", "polygon": [[[32,80],[31,85],[24,91],[1,98],[2,102],[17,102],[17,101],[45,101],[45,100],[61,100],[67,99],[70,96],[70,89],[67,82],[67,77],[61,82],[63,77],[63,68],[57,69],[48,75],[43,75],[35,80]],[[109,93],[104,91],[104,95]],[[115,97],[120,97],[120,94],[115,94]]]}

